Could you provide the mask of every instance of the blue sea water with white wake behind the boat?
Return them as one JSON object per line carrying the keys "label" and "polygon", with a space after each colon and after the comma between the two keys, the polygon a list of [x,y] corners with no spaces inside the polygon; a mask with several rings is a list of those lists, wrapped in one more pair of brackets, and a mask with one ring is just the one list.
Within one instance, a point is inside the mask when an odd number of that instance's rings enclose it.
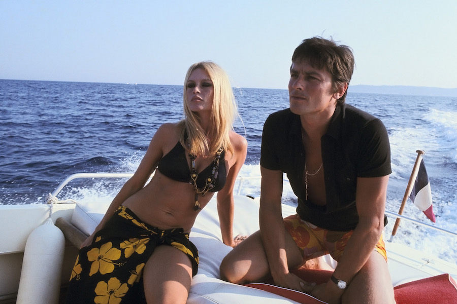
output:
{"label": "blue sea water with white wake behind the boat", "polygon": [[[182,118],[182,86],[0,80],[0,204],[44,203],[77,172],[134,172],[157,128]],[[248,154],[240,176],[259,176],[265,119],[288,107],[287,90],[235,88]],[[436,226],[457,231],[457,98],[351,93],[347,103],[380,118],[387,128],[393,173],[386,209],[398,212],[416,150],[426,151]],[[59,199],[110,201],[125,180],[74,181]],[[259,195],[260,180],[242,195]],[[290,188],[283,201],[296,204]],[[404,215],[431,223],[410,200]],[[395,219],[389,218],[386,238]],[[426,233],[402,220],[396,242],[455,262],[457,237]]]}

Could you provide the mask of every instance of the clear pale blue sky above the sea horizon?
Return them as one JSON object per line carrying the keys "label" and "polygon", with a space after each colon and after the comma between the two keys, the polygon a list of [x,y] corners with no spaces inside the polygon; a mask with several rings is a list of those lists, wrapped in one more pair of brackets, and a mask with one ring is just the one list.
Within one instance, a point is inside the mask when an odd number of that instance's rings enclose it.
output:
{"label": "clear pale blue sky above the sea horizon", "polygon": [[351,85],[457,88],[457,2],[0,0],[0,79],[286,89],[303,39],[352,48]]}

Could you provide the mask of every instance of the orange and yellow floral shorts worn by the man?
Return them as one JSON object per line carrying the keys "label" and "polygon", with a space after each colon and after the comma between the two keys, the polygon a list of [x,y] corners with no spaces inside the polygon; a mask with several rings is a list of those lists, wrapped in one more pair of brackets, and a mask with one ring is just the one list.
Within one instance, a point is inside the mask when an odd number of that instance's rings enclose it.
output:
{"label": "orange and yellow floral shorts worn by the man", "polygon": [[[338,261],[353,233],[353,231],[321,229],[310,222],[302,220],[298,214],[284,218],[284,225],[297,246],[302,250],[305,260],[330,253]],[[382,235],[374,250],[379,252],[387,261]]]}

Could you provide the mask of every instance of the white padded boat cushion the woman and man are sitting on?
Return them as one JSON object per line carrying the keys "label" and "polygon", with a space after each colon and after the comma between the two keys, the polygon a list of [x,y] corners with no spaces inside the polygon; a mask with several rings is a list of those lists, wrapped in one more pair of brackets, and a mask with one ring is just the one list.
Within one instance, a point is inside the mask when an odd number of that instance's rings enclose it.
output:
{"label": "white padded boat cushion the woman and man are sitting on", "polygon": [[[217,214],[216,196],[200,212],[190,233],[190,240],[199,249],[199,272],[192,279],[188,304],[192,303],[297,303],[282,296],[228,283],[219,279],[219,265],[232,248],[222,243]],[[100,222],[109,204],[78,203],[72,223],[89,235]],[[235,196],[234,236],[250,235],[258,230],[258,199]],[[283,216],[295,213],[292,206],[283,205]]]}

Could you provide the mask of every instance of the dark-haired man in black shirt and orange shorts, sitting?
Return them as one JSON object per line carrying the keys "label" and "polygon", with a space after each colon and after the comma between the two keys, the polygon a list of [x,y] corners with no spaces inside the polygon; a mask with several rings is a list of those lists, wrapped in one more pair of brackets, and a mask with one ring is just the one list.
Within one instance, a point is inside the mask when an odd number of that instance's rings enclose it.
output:
{"label": "dark-haired man in black shirt and orange shorts, sitting", "polygon": [[[271,276],[280,286],[328,303],[395,303],[382,232],[390,148],[379,119],[345,104],[354,58],[321,37],[292,55],[290,108],[264,125],[260,231],[222,261],[221,277],[247,283]],[[281,216],[283,173],[298,197]],[[315,286],[289,272],[330,253],[331,279]]]}

